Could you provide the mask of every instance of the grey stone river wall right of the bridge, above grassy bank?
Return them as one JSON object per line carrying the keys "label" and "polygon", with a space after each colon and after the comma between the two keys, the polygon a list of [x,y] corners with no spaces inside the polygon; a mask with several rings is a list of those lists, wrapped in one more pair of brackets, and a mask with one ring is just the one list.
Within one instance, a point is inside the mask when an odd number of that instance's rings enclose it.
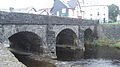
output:
{"label": "grey stone river wall right of the bridge, above grassy bank", "polygon": [[119,24],[103,24],[97,26],[98,37],[107,37],[109,39],[120,39]]}

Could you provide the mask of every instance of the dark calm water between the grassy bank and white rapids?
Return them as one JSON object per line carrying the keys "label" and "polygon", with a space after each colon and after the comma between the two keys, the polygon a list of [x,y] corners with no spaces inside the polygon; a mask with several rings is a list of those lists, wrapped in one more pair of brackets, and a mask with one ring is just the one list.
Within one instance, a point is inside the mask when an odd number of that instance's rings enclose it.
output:
{"label": "dark calm water between the grassy bank and white rapids", "polygon": [[84,59],[120,59],[120,49],[108,46],[86,44]]}

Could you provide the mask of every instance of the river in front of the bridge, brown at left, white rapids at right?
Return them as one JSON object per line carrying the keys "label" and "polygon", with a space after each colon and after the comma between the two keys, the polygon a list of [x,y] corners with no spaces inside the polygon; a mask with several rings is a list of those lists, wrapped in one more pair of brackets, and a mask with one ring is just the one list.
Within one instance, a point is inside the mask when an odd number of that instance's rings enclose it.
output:
{"label": "river in front of the bridge, brown at left, white rapids at right", "polygon": [[120,49],[87,45],[84,58],[76,61],[57,61],[54,64],[18,58],[27,67],[120,67]]}

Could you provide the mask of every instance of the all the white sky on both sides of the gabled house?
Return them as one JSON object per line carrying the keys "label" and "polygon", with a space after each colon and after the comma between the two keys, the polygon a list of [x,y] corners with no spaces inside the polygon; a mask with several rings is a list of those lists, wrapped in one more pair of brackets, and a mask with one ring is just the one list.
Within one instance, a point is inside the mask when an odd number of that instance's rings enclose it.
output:
{"label": "all the white sky on both sides of the gabled house", "polygon": [[[86,1],[86,0],[85,0]],[[88,0],[95,1],[96,3],[102,5],[116,4],[120,6],[120,0]],[[54,0],[0,0],[0,8],[26,8],[35,7],[36,9],[41,8],[51,8],[53,6]]]}

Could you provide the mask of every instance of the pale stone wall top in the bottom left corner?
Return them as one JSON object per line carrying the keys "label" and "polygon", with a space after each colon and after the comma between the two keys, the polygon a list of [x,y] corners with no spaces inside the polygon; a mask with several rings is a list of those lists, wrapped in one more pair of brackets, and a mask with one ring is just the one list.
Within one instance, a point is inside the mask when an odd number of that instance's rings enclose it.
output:
{"label": "pale stone wall top in the bottom left corner", "polygon": [[0,44],[0,67],[26,67],[2,44]]}

